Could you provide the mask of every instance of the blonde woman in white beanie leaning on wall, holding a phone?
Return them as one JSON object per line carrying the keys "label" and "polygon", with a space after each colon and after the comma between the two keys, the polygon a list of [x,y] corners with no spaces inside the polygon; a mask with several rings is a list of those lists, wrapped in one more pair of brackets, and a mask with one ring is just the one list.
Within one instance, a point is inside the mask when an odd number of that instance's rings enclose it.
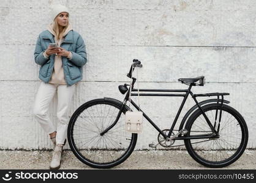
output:
{"label": "blonde woman in white beanie leaning on wall, holding a phone", "polygon": [[[34,116],[55,145],[50,169],[61,166],[62,148],[66,143],[68,110],[72,103],[75,83],[83,78],[83,65],[87,62],[85,43],[69,24],[69,10],[64,5],[51,7],[53,23],[37,38],[35,62],[40,65],[42,80],[34,102]],[[53,47],[50,43],[57,43]],[[57,127],[48,115],[53,96],[57,92]]]}

